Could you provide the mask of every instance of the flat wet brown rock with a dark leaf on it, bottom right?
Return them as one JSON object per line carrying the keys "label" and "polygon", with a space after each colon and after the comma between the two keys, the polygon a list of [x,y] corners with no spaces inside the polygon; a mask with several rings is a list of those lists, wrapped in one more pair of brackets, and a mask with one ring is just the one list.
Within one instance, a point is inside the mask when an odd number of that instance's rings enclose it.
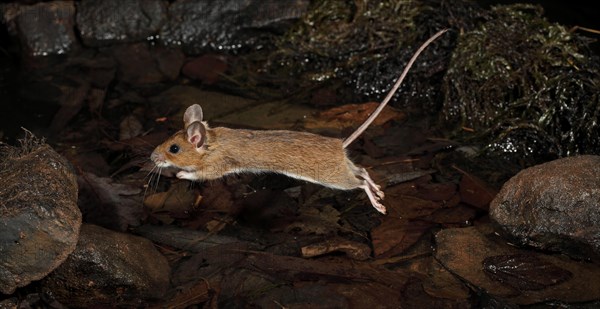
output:
{"label": "flat wet brown rock with a dark leaf on it, bottom right", "polygon": [[509,303],[600,298],[600,266],[517,249],[494,235],[490,226],[445,229],[436,234],[435,241],[435,258],[444,268]]}

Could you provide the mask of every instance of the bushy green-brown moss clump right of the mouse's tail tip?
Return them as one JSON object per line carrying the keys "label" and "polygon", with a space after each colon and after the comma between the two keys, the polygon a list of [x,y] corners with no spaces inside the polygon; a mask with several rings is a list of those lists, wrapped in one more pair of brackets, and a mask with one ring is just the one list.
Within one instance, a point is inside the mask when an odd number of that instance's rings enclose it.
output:
{"label": "bushy green-brown moss clump right of the mouse's tail tip", "polygon": [[507,151],[509,137],[515,152],[527,150],[531,140],[518,136],[537,135],[547,142],[539,151],[600,153],[599,63],[588,43],[540,7],[492,8],[458,39],[443,82],[445,120],[474,129],[492,150]]}

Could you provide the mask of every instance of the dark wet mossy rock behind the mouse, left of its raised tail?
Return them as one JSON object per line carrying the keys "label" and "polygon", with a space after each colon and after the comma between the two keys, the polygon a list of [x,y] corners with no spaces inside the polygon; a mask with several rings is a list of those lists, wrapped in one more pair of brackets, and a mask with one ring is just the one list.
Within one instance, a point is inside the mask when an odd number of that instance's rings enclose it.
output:
{"label": "dark wet mossy rock behind the mouse, left of its raised tail", "polygon": [[302,101],[328,88],[346,103],[374,100],[414,49],[444,27],[446,15],[425,1],[317,0],[273,48],[239,58],[229,77],[262,98]]}

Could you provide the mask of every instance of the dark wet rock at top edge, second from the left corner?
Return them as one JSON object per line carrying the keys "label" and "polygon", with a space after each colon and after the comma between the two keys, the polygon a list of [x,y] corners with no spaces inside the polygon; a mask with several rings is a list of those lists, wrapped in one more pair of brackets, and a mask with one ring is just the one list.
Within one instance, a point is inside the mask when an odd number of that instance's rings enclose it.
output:
{"label": "dark wet rock at top edge, second from the left corner", "polygon": [[77,6],[77,28],[88,46],[145,41],[158,33],[166,12],[161,0],[83,0]]}

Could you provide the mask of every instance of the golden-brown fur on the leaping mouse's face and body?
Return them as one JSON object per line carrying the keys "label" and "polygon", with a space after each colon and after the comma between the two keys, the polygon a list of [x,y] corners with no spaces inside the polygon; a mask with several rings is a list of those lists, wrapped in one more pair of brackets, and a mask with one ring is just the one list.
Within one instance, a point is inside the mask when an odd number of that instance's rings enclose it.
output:
{"label": "golden-brown fur on the leaping mouse's face and body", "polygon": [[[179,146],[179,153],[169,152],[173,144]],[[355,177],[358,167],[347,159],[342,140],[305,132],[218,127],[207,130],[206,142],[196,150],[186,133],[179,131],[155,153],[164,154],[173,166],[195,171],[198,180],[246,171],[276,172],[343,190],[362,184]]]}

